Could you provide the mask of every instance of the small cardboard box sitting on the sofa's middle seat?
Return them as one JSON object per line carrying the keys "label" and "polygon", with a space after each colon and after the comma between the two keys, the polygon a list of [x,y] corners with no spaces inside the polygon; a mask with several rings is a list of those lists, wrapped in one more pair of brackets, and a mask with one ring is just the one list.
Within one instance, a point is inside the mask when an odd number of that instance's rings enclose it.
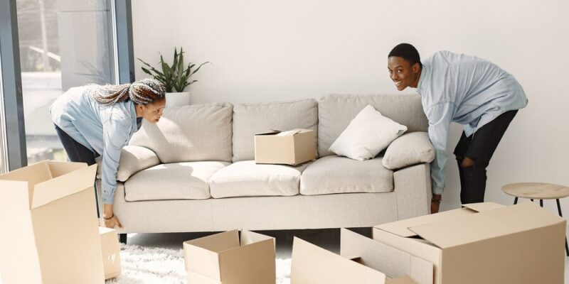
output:
{"label": "small cardboard box sitting on the sofa's middle seat", "polygon": [[316,134],[309,129],[255,134],[255,163],[299,165],[316,158]]}

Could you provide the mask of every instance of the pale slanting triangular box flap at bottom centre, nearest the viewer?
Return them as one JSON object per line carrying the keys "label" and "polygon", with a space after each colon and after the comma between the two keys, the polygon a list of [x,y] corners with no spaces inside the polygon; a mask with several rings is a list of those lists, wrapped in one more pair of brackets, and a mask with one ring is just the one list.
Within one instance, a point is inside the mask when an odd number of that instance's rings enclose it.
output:
{"label": "pale slanting triangular box flap at bottom centre, nearest the viewer", "polygon": [[383,284],[385,274],[294,237],[291,284]]}

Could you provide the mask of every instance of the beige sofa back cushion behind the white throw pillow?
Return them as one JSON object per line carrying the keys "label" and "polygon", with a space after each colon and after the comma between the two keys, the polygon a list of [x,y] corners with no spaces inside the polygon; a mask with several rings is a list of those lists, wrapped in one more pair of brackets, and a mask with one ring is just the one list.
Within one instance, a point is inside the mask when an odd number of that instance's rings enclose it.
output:
{"label": "beige sofa back cushion behind the white throw pillow", "polygon": [[330,94],[318,102],[318,155],[334,155],[328,150],[350,121],[368,104],[398,124],[408,133],[427,131],[429,123],[422,111],[418,94]]}

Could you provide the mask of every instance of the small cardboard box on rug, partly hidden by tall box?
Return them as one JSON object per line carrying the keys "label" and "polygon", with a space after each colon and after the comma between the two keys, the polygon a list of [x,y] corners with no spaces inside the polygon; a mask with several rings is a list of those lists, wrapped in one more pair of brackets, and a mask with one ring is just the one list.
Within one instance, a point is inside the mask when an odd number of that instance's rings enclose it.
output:
{"label": "small cardboard box on rug, partly hidden by tall box", "polygon": [[102,267],[105,271],[105,280],[120,275],[120,246],[117,230],[99,227],[101,237]]}

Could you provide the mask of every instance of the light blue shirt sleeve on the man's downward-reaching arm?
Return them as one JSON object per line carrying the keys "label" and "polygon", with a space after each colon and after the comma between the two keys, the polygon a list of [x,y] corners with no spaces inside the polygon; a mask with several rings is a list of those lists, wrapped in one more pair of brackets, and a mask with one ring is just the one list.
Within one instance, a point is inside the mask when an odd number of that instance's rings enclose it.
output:
{"label": "light blue shirt sleeve on the man's downward-reaching arm", "polygon": [[447,141],[453,112],[452,102],[440,102],[427,109],[429,138],[435,148],[435,160],[431,163],[432,192],[442,195],[445,188],[445,167],[447,165]]}

